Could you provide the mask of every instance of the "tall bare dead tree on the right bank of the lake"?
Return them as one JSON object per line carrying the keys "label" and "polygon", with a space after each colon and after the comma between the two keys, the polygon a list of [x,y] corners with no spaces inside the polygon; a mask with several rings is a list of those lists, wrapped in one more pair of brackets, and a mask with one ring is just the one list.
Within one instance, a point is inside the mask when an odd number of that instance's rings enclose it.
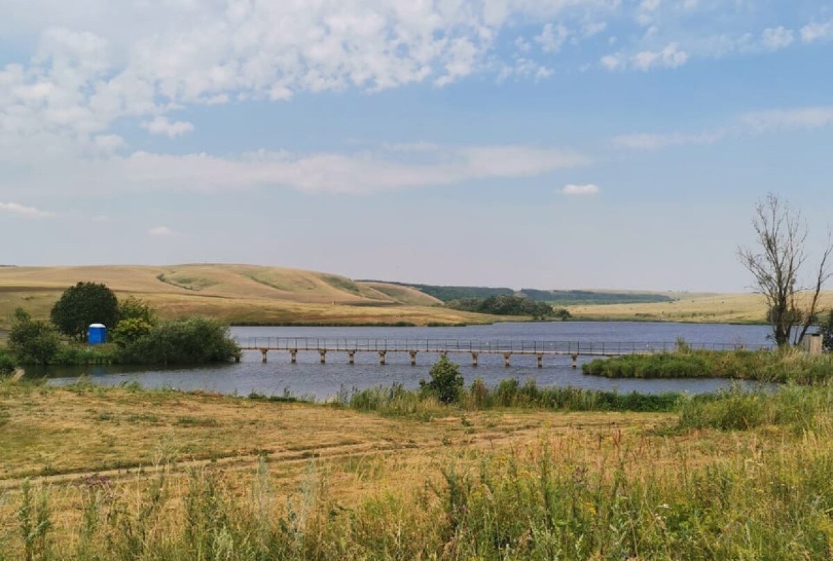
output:
{"label": "tall bare dead tree on the right bank of the lake", "polygon": [[776,344],[790,345],[795,334],[792,342],[801,345],[817,319],[821,292],[833,276],[833,237],[828,233],[814,281],[802,286],[800,275],[807,261],[808,229],[801,211],[770,194],[756,205],[752,226],[756,247],[741,246],[738,258],[754,277],[753,288],[766,299]]}

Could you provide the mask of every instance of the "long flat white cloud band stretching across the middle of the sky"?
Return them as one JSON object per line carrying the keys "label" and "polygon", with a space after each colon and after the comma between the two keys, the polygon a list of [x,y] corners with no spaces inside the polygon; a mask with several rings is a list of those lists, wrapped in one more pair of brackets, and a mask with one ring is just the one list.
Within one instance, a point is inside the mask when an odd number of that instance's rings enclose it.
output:
{"label": "long flat white cloud band stretching across the middle of the sky", "polygon": [[546,176],[586,166],[576,151],[535,146],[383,146],[355,152],[255,151],[240,156],[134,152],[67,161],[7,181],[7,192],[62,194],[125,191],[241,191],[291,188],[307,193],[362,195],[455,186],[471,181]]}

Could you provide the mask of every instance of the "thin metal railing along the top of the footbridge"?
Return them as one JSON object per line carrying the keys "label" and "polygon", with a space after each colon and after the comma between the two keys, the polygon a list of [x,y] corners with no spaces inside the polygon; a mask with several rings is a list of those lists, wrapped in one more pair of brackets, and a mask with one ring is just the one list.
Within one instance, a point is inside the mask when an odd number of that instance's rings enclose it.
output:
{"label": "thin metal railing along the top of the footbridge", "polygon": [[[374,339],[332,337],[242,337],[237,344],[244,349],[328,350],[328,351],[416,351],[416,352],[486,352],[486,353],[563,353],[577,355],[636,355],[671,352],[677,344],[667,341],[547,341],[547,340],[477,340],[477,339]],[[696,350],[762,350],[768,345],[734,343],[692,343]]]}

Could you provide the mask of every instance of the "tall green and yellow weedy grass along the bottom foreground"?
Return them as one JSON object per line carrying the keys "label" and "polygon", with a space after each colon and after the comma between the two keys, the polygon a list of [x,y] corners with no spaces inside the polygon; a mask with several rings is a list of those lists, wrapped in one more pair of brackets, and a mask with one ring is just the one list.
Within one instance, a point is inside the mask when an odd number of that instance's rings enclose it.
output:
{"label": "tall green and yellow weedy grass along the bottom foreground", "polygon": [[[831,434],[688,469],[615,441],[591,459],[556,441],[450,459],[421,489],[341,504],[312,468],[282,494],[261,463],[194,470],[134,490],[92,479],[58,521],[53,489],[24,484],[7,559],[830,559]],[[635,459],[637,461],[635,461]]]}

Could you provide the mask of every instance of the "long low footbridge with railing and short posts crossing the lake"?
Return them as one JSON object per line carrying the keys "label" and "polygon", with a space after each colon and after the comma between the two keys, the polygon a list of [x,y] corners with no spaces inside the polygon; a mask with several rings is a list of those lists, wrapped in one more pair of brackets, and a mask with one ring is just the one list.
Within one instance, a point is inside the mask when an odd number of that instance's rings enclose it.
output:
{"label": "long low footbridge with railing and short posts crossing the lake", "polygon": [[[321,364],[327,362],[327,353],[345,353],[347,363],[355,364],[356,353],[377,353],[379,364],[384,365],[388,354],[407,353],[411,365],[416,365],[420,353],[447,356],[449,354],[471,355],[471,365],[476,366],[480,355],[502,355],[503,363],[510,365],[512,355],[534,355],[538,367],[544,365],[546,356],[569,356],[572,367],[578,367],[578,357],[612,357],[624,355],[651,355],[676,350],[677,343],[635,343],[635,342],[587,342],[587,341],[541,341],[541,340],[462,340],[462,339],[332,339],[317,337],[248,337],[237,340],[242,350],[259,350],[263,362],[267,362],[270,350],[289,353],[292,364],[302,351],[317,352]],[[702,350],[739,350],[743,345],[708,343],[688,345]],[[756,347],[757,348],[757,347]]]}

